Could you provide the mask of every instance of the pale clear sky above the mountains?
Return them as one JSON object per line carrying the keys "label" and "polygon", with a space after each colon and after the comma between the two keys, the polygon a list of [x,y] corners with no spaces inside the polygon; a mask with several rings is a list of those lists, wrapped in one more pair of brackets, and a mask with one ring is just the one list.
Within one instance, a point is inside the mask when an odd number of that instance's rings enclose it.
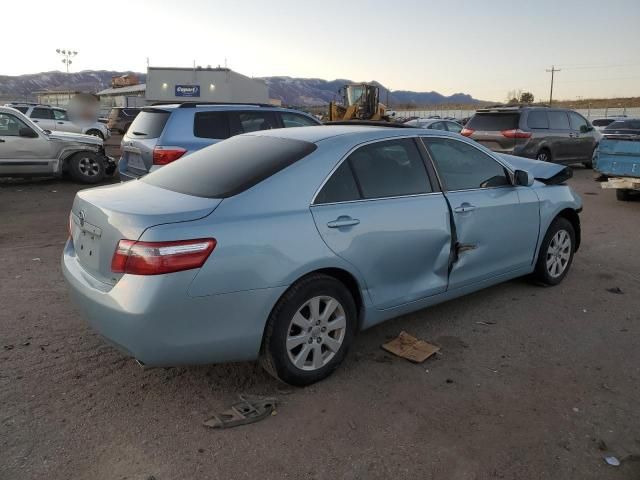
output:
{"label": "pale clear sky above the mountains", "polygon": [[[4,3],[4,2],[3,2]],[[227,66],[392,90],[640,96],[640,0],[76,0],[2,6],[0,75]],[[39,12],[39,13],[38,13]],[[22,19],[22,20],[20,20]]]}

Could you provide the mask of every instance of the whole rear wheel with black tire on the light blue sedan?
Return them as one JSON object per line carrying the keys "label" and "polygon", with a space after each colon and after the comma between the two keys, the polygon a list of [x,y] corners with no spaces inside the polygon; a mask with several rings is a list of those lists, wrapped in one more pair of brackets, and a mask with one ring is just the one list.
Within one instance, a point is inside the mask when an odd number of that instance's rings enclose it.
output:
{"label": "whole rear wheel with black tire on the light blue sedan", "polygon": [[296,282],[269,316],[260,361],[290,385],[329,376],[344,359],[357,326],[357,309],[344,284],[324,274]]}

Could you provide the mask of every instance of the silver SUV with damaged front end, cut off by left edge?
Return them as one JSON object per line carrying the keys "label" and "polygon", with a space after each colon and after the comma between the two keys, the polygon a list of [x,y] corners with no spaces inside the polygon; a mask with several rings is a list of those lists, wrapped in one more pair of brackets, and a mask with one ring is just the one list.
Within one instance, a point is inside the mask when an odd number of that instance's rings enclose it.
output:
{"label": "silver SUV with damaged front end, cut off by left edge", "polygon": [[98,183],[115,172],[102,140],[90,135],[46,132],[20,111],[0,107],[0,176],[62,176]]}

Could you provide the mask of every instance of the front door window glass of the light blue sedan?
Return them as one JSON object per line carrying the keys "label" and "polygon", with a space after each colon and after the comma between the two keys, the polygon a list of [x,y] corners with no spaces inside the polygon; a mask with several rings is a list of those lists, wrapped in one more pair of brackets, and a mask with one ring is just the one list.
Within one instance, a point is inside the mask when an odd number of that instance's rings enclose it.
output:
{"label": "front door window glass of the light blue sedan", "polygon": [[486,153],[459,140],[423,137],[449,191],[511,185],[505,168]]}

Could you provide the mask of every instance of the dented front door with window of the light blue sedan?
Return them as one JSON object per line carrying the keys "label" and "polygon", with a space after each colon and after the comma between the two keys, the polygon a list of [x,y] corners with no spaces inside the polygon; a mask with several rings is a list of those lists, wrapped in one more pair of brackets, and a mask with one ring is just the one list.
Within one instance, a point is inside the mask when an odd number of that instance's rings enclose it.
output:
{"label": "dented front door with window of the light blue sedan", "polygon": [[512,186],[508,171],[473,145],[424,141],[453,210],[457,260],[449,289],[530,266],[538,240],[537,196],[529,187]]}

